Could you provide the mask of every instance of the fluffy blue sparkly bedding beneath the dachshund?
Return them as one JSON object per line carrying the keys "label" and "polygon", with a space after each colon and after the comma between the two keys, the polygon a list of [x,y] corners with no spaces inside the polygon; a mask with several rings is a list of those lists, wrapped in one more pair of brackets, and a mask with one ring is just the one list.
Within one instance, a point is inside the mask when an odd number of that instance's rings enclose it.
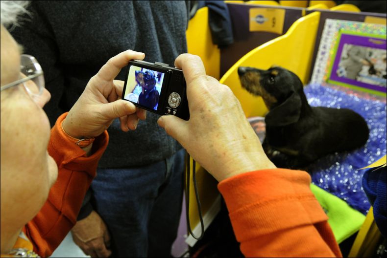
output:
{"label": "fluffy blue sparkly bedding beneath the dachshund", "polygon": [[325,156],[308,168],[315,185],[365,215],[370,203],[362,187],[365,170],[359,169],[386,155],[386,99],[316,84],[305,86],[304,92],[311,106],[350,108],[362,115],[368,124],[370,134],[364,147]]}

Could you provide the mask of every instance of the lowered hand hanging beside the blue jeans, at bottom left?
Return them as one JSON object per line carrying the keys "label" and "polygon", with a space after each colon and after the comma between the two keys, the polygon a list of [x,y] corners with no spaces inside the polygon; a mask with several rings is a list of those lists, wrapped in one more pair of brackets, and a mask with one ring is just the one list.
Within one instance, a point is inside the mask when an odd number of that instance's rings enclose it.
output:
{"label": "lowered hand hanging beside the blue jeans, at bottom left", "polygon": [[71,231],[74,243],[91,257],[109,257],[110,236],[102,218],[95,212],[79,220]]}

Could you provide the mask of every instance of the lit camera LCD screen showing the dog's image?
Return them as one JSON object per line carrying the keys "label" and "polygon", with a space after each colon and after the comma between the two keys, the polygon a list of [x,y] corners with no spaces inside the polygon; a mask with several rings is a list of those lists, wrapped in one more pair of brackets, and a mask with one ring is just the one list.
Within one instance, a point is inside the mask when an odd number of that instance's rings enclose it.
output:
{"label": "lit camera LCD screen showing the dog's image", "polygon": [[162,72],[131,65],[123,98],[157,110],[164,76]]}

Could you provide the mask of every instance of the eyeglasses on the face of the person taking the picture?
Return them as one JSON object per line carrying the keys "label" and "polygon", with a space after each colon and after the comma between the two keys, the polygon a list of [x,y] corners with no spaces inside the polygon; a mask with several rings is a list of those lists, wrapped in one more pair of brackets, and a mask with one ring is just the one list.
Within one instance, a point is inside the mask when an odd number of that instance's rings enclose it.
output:
{"label": "eyeglasses on the face of the person taking the picture", "polygon": [[45,87],[42,67],[33,56],[21,55],[20,57],[20,73],[22,78],[10,84],[1,86],[0,90],[23,84],[28,94],[32,99],[35,99],[42,95]]}

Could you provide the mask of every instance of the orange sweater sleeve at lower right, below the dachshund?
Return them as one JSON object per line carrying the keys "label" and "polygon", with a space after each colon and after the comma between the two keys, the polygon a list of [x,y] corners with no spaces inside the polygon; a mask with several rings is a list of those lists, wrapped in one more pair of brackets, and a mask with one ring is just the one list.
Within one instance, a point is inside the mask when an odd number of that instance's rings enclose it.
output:
{"label": "orange sweater sleeve at lower right, below the dachshund", "polygon": [[307,172],[247,172],[218,184],[245,257],[341,257]]}

